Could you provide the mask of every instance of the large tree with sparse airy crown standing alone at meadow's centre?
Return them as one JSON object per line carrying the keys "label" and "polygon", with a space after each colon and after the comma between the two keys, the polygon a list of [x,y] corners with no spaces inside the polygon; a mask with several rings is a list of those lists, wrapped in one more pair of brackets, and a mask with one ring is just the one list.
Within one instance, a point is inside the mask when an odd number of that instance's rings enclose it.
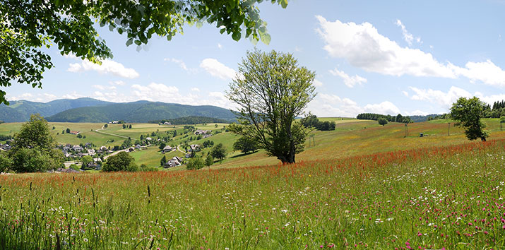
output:
{"label": "large tree with sparse airy crown standing alone at meadow's centre", "polygon": [[292,54],[247,52],[227,91],[239,106],[238,123],[227,128],[256,141],[281,162],[294,163],[309,133],[294,120],[316,95],[314,77]]}

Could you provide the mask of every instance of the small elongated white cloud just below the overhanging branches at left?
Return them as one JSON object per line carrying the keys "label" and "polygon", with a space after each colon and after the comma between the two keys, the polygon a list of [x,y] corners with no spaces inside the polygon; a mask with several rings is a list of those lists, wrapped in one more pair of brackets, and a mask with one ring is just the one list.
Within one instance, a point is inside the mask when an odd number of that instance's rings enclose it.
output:
{"label": "small elongated white cloud just below the overhanging branches at left", "polygon": [[123,64],[116,61],[105,59],[102,65],[93,64],[91,61],[83,60],[81,64],[69,64],[70,72],[97,71],[98,73],[112,73],[115,76],[124,78],[138,78],[140,76],[137,71],[131,68],[126,68]]}

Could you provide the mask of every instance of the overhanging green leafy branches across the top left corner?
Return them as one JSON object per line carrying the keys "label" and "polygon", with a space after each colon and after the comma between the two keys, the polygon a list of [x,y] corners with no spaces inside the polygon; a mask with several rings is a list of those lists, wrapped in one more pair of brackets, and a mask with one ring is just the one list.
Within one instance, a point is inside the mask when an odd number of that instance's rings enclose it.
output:
{"label": "overhanging green leafy branches across the top left corner", "polygon": [[[240,40],[268,44],[266,22],[259,17],[261,0],[2,0],[0,1],[0,85],[28,83],[42,88],[42,73],[51,69],[51,57],[41,48],[57,45],[61,54],[100,63],[112,52],[98,36],[94,23],[126,35],[126,45],[140,49],[153,35],[171,40],[186,23],[215,24],[220,32]],[[287,0],[271,0],[283,8]],[[5,91],[0,102],[8,104]]]}

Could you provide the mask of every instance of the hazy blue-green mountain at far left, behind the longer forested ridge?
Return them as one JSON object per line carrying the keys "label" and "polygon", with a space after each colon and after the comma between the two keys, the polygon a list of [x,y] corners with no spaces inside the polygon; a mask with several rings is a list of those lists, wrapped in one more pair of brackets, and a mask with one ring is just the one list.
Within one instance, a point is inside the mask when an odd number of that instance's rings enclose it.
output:
{"label": "hazy blue-green mountain at far left, behind the longer forested ridge", "polygon": [[112,103],[93,98],[61,99],[51,102],[11,101],[8,106],[0,105],[0,120],[5,122],[28,121],[30,115],[35,113],[39,113],[42,117],[47,117],[67,109],[103,106]]}

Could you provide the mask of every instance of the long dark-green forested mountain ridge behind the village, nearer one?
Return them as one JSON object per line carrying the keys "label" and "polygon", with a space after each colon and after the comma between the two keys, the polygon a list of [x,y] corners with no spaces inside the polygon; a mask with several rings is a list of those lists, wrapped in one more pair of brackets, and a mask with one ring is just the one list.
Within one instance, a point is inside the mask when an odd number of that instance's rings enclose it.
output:
{"label": "long dark-green forested mountain ridge behind the village, nearer one", "polygon": [[46,117],[46,119],[47,121],[61,122],[107,122],[113,120],[148,122],[191,116],[211,117],[228,121],[235,118],[230,110],[221,107],[138,101],[114,103],[100,107],[78,107],[59,112]]}

